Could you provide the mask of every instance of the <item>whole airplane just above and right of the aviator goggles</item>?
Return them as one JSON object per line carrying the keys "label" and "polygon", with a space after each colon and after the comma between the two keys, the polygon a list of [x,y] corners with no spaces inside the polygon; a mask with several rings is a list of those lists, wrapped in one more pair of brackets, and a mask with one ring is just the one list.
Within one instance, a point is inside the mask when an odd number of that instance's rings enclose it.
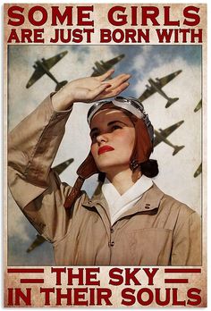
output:
{"label": "whole airplane just above and right of the aviator goggles", "polygon": [[165,105],[165,108],[168,108],[170,105],[173,105],[173,103],[175,103],[179,99],[179,97],[175,97],[175,98],[168,97],[165,94],[165,92],[162,90],[162,88],[165,86],[165,84],[167,84],[168,82],[173,80],[180,73],[181,73],[181,70],[180,71],[175,71],[175,72],[173,72],[171,74],[168,74],[167,76],[165,76],[165,77],[163,77],[161,79],[158,79],[158,78],[156,78],[156,80],[152,80],[151,78],[148,79],[148,82],[149,82],[150,86],[146,85],[147,89],[139,97],[139,100],[142,102],[145,99],[147,99],[148,97],[150,97],[152,94],[157,92],[162,97],[165,97],[165,99],[167,99],[167,104]]}

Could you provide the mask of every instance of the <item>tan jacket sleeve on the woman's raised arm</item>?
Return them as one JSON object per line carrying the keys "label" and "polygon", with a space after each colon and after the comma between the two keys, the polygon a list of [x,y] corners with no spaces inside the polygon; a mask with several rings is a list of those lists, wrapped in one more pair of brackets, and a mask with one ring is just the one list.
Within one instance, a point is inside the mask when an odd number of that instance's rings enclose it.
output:
{"label": "tan jacket sleeve on the woman's raised arm", "polygon": [[8,137],[8,182],[23,214],[46,240],[60,239],[71,220],[63,202],[70,187],[51,170],[70,111],[55,112],[51,96]]}

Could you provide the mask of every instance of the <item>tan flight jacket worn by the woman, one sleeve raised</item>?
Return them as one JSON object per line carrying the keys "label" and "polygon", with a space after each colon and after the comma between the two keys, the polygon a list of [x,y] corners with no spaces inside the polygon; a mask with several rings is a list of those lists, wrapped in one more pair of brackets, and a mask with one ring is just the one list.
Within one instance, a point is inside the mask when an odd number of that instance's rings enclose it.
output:
{"label": "tan flight jacket worn by the woman, one sleeve raised", "polygon": [[200,217],[155,184],[113,226],[101,191],[64,209],[71,187],[50,167],[69,115],[49,96],[9,135],[13,198],[53,243],[55,265],[201,265]]}

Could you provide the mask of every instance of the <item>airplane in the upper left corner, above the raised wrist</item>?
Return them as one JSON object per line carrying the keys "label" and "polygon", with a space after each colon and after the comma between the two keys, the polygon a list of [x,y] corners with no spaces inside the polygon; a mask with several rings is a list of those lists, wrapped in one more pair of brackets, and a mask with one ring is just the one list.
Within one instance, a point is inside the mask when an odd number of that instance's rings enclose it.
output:
{"label": "airplane in the upper left corner, above the raised wrist", "polygon": [[56,91],[62,88],[67,83],[67,80],[63,80],[59,82],[58,80],[55,79],[55,76],[50,72],[50,69],[55,65],[55,63],[58,63],[63,58],[63,56],[65,56],[67,53],[68,51],[64,51],[51,58],[48,58],[48,59],[42,58],[41,60],[36,61],[35,64],[33,65],[33,67],[35,68],[35,71],[30,77],[30,80],[28,81],[26,88],[30,88],[45,73],[48,75],[48,77],[50,77],[52,80],[55,81]]}

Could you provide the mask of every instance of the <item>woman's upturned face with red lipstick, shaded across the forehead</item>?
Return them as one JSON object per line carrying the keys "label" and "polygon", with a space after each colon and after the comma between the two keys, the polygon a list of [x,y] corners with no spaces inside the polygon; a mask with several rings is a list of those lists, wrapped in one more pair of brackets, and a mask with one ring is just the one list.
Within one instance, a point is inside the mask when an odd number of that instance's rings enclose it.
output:
{"label": "woman's upturned face with red lipstick, shaded across the forehead", "polygon": [[91,154],[100,172],[121,172],[130,167],[135,128],[121,110],[96,113],[90,124]]}

